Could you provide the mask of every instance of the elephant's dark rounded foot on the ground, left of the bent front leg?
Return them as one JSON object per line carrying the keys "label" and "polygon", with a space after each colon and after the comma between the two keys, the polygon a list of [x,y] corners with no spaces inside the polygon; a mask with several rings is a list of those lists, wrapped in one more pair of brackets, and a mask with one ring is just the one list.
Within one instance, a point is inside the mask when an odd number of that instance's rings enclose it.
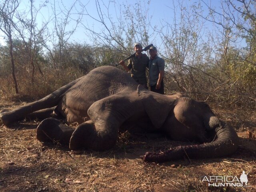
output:
{"label": "elephant's dark rounded foot on the ground, left of the bent front leg", "polygon": [[61,144],[68,144],[73,132],[73,128],[61,124],[59,120],[47,118],[36,128],[36,138],[41,142],[58,141]]}

